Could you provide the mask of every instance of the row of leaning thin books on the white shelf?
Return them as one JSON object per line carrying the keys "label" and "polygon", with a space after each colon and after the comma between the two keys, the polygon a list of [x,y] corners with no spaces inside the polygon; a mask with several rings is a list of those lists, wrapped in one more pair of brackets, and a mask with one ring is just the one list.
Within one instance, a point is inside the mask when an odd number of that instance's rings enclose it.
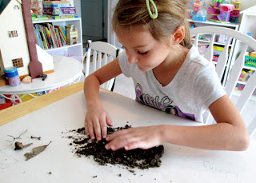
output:
{"label": "row of leaning thin books on the white shelf", "polygon": [[66,32],[54,23],[34,24],[34,34],[38,46],[43,50],[54,49],[66,45]]}

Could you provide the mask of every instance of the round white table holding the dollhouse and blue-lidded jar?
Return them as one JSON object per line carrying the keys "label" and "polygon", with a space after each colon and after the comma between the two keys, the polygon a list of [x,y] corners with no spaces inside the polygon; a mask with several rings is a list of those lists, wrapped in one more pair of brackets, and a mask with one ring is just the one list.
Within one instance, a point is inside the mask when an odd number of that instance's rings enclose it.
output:
{"label": "round white table holding the dollhouse and blue-lidded jar", "polygon": [[[74,58],[60,55],[53,55],[53,58],[54,73],[47,74],[45,81],[42,81],[42,78],[34,78],[30,84],[21,83],[20,86],[1,86],[0,96],[8,98],[13,102],[15,100],[22,102],[21,99],[25,95],[21,97],[20,94],[29,94],[32,97],[37,97],[31,93],[58,90],[61,86],[79,82],[82,76],[82,64],[80,62]],[[6,94],[11,95],[11,97],[6,97]]]}

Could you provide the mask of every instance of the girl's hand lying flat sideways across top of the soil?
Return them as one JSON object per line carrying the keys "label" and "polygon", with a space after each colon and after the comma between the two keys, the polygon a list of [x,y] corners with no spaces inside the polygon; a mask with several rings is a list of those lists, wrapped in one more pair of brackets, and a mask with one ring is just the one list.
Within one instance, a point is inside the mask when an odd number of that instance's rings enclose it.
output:
{"label": "girl's hand lying flat sideways across top of the soil", "polygon": [[149,149],[162,144],[162,125],[122,129],[106,137],[106,149]]}

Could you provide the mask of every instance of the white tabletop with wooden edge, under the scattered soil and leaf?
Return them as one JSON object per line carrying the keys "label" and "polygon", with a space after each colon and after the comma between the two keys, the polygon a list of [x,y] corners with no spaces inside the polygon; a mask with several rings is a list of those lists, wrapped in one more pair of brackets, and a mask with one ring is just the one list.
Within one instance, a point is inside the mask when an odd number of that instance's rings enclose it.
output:
{"label": "white tabletop with wooden edge, under the scattered soil and leaf", "polygon": [[[112,117],[114,127],[126,125],[126,121],[134,127],[158,124],[201,125],[105,90],[100,90],[100,97],[104,108]],[[75,157],[69,145],[71,140],[63,138],[62,132],[65,134],[70,129],[84,126],[85,113],[86,101],[80,91],[0,126],[0,182],[254,183],[256,180],[255,141],[251,141],[249,149],[244,152],[212,151],[164,144],[162,165],[153,169],[134,169],[135,175],[121,165],[102,166],[93,158]],[[24,144],[33,142],[34,145],[14,151],[14,144],[6,141],[11,140],[8,135],[17,137],[26,129],[21,141]],[[30,139],[31,135],[40,136],[42,140]],[[25,161],[24,153],[50,141],[52,142],[45,151]],[[119,173],[122,177],[118,176]]]}

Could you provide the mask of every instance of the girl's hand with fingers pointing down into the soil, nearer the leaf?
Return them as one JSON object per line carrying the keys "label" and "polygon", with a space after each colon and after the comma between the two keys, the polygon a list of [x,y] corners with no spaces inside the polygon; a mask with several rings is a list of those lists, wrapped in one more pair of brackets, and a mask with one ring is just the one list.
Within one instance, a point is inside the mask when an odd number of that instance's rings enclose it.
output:
{"label": "girl's hand with fingers pointing down into the soil, nearer the leaf", "polygon": [[106,138],[106,124],[112,125],[110,115],[105,109],[94,107],[87,109],[85,129],[86,134],[90,136],[92,140],[101,141],[102,138]]}

